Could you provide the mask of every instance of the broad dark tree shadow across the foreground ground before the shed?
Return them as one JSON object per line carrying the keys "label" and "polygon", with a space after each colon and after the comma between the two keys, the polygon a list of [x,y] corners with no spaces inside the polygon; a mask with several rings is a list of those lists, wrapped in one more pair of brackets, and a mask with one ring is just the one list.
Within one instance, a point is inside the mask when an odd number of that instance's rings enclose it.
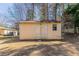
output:
{"label": "broad dark tree shadow across the foreground ground before the shed", "polygon": [[12,56],[68,56],[72,55],[67,50],[69,47],[63,47],[62,44],[39,44],[39,45],[30,45],[23,46],[19,49],[10,50],[5,48],[4,51],[0,51],[0,55],[12,55]]}

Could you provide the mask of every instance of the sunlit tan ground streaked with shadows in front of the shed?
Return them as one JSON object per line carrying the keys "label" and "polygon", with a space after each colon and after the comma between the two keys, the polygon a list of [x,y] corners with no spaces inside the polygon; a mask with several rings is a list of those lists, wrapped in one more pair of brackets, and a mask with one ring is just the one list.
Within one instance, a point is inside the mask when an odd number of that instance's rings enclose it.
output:
{"label": "sunlit tan ground streaked with shadows in front of the shed", "polygon": [[79,42],[63,41],[20,41],[0,39],[1,56],[78,56]]}

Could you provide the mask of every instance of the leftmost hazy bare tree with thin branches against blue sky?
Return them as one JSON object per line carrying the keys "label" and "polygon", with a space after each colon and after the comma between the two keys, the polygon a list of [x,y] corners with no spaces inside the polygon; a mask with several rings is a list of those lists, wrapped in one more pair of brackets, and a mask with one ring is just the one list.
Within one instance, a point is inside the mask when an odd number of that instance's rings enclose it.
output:
{"label": "leftmost hazy bare tree with thin branches against blue sky", "polygon": [[8,9],[10,15],[15,18],[17,21],[23,20],[24,18],[24,5],[23,4],[13,4],[13,8]]}

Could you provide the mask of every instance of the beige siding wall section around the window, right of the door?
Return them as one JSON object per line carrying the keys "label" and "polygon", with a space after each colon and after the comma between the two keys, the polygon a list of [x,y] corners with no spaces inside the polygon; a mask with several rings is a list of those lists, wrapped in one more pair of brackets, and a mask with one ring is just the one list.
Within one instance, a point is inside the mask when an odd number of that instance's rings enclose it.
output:
{"label": "beige siding wall section around the window, right of the door", "polygon": [[[53,31],[52,25],[57,25],[57,30]],[[61,23],[50,23],[48,24],[48,38],[49,39],[61,39]]]}

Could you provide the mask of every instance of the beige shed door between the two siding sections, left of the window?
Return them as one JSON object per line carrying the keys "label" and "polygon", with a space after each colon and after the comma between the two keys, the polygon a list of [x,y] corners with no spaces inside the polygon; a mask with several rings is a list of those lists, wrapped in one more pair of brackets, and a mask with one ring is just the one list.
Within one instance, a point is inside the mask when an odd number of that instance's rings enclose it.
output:
{"label": "beige shed door between the two siding sections, left of the window", "polygon": [[42,23],[40,25],[40,36],[41,36],[41,39],[47,39],[48,37],[48,25],[47,23]]}

